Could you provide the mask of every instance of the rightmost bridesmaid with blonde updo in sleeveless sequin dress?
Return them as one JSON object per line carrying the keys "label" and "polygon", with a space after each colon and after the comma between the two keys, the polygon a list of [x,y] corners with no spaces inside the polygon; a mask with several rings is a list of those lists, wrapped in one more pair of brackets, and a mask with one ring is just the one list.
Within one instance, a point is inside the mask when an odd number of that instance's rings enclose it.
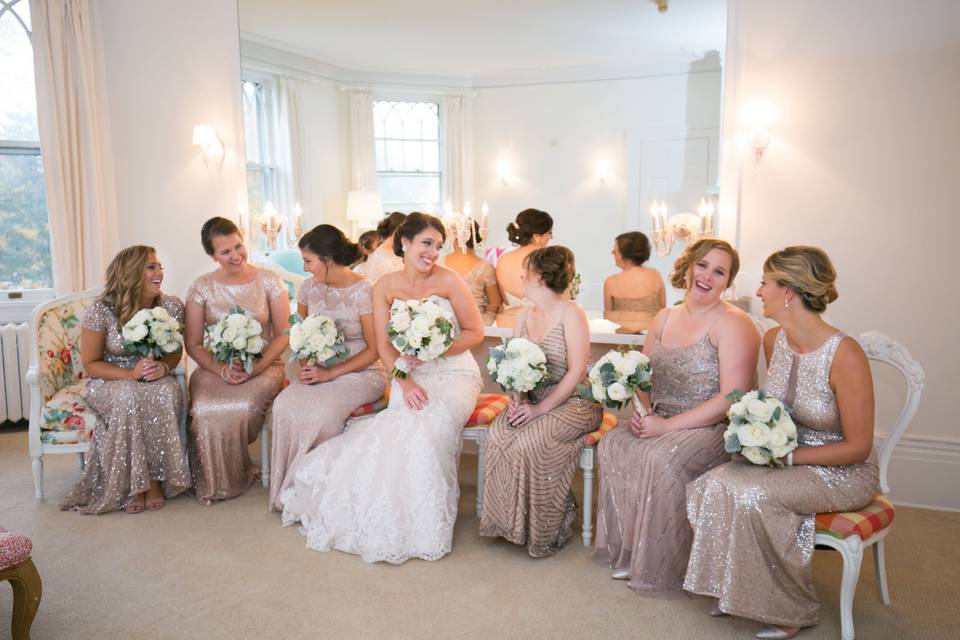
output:
{"label": "rightmost bridesmaid with blonde updo in sleeveless sequin dress", "polygon": [[757,295],[780,324],[763,339],[767,391],[798,425],[788,466],[733,461],[687,486],[694,541],[684,588],[718,598],[713,615],[777,625],[758,638],[817,624],[814,514],[856,511],[879,491],[870,366],[856,340],[820,316],[837,298],[835,279],[816,247],[787,247],[763,265]]}

